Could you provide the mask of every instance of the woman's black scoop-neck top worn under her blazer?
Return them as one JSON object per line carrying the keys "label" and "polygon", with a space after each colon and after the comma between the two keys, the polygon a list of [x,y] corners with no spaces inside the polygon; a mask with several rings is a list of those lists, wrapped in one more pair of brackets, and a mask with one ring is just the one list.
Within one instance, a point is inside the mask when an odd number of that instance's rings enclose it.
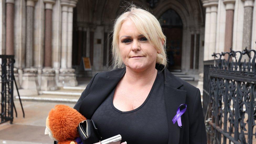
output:
{"label": "woman's black scoop-neck top worn under her blazer", "polygon": [[131,111],[113,105],[115,88],[92,116],[103,140],[115,135],[127,143],[168,143],[168,121],[164,103],[164,74],[157,77],[144,103]]}

